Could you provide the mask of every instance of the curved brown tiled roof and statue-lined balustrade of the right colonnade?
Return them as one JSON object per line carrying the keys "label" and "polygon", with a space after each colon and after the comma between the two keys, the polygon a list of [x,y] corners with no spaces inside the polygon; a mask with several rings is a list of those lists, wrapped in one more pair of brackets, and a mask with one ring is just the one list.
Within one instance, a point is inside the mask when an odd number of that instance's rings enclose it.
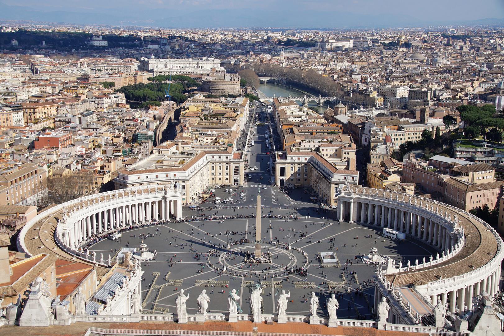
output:
{"label": "curved brown tiled roof and statue-lined balustrade of the right colonnade", "polygon": [[[348,191],[352,192],[348,193]],[[489,263],[500,264],[504,256],[502,251],[502,240],[488,223],[449,204],[428,200],[414,195],[405,195],[363,187],[347,187],[347,191],[343,192],[340,196],[342,196],[341,199],[344,201],[346,200],[345,198],[350,196],[353,198],[354,203],[383,204],[384,206],[391,206],[400,210],[420,214],[447,228],[451,228],[450,232],[452,235],[454,228],[458,226],[463,228],[463,231],[455,229],[456,232],[458,231],[458,235],[456,234],[455,236],[458,236],[457,240],[460,241],[462,238],[460,234],[463,233],[465,236],[465,244],[463,248],[450,259],[419,269],[385,275],[387,281],[394,284],[396,288],[415,283],[418,285],[421,283],[433,283],[434,286],[447,284],[449,281],[457,281],[458,277],[470,276],[470,274],[467,273],[479,272],[479,268],[484,268],[485,265]],[[409,201],[410,199],[411,203]],[[420,206],[420,202],[422,206]],[[441,210],[443,210],[444,214],[448,213],[448,215],[450,215],[452,222],[446,220],[444,218],[445,215],[443,217],[440,216]],[[436,211],[438,211],[438,213],[436,213]],[[455,217],[455,215],[457,215],[457,217]],[[458,218],[458,223],[454,223],[453,218]],[[412,261],[414,263],[414,260]]]}

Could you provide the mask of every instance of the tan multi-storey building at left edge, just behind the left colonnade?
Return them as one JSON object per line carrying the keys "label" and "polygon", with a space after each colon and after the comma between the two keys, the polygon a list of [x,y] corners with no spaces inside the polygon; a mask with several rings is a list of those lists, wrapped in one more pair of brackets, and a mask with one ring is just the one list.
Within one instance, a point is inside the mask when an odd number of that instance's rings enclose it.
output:
{"label": "tan multi-storey building at left edge, just behind the left colonnade", "polygon": [[47,178],[47,165],[24,163],[0,175],[0,205],[32,204],[40,197]]}

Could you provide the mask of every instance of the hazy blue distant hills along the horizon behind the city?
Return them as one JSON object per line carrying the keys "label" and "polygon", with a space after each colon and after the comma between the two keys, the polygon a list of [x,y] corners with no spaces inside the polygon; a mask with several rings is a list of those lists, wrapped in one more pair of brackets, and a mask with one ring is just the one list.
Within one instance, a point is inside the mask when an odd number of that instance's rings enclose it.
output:
{"label": "hazy blue distant hills along the horizon behind the city", "polygon": [[69,23],[77,25],[150,26],[160,28],[397,28],[438,25],[504,26],[504,19],[426,21],[409,15],[361,15],[338,11],[268,11],[264,9],[142,10],[137,8],[97,11],[39,11],[1,4],[0,20]]}

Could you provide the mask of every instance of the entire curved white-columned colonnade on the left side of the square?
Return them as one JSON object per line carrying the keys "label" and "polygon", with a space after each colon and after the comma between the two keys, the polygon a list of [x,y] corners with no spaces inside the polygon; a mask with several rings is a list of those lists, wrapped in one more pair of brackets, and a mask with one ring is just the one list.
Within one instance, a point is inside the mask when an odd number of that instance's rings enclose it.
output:
{"label": "entire curved white-columned colonnade on the left side of the square", "polygon": [[18,248],[29,255],[49,250],[110,266],[110,261],[82,253],[82,246],[92,238],[153,220],[180,219],[181,214],[182,195],[173,187],[140,186],[89,195],[39,213],[21,230]]}

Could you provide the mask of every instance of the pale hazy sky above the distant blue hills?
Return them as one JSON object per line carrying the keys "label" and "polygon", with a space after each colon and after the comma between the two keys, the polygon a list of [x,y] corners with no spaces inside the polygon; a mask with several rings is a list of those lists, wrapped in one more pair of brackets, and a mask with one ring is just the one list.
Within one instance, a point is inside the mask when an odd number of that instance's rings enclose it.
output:
{"label": "pale hazy sky above the distant blue hills", "polygon": [[[105,12],[155,9],[285,9],[341,11],[368,15],[407,15],[425,20],[504,18],[504,0],[3,0],[39,11]],[[335,18],[337,20],[337,18]]]}

